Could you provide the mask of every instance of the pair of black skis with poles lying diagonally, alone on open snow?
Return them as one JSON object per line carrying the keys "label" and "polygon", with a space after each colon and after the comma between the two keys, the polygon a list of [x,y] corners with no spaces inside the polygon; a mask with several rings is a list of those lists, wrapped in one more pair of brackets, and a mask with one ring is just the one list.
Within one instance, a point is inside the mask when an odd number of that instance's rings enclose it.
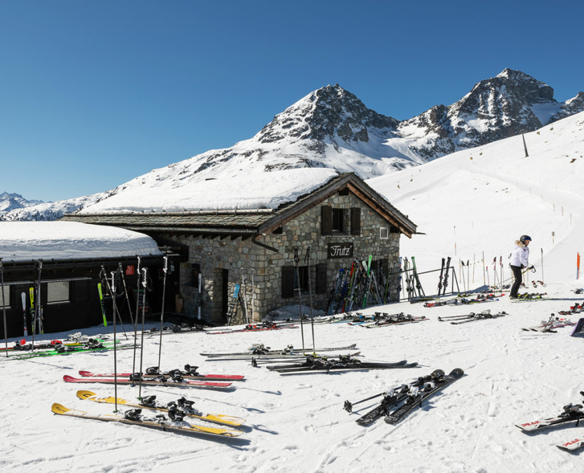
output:
{"label": "pair of black skis with poles lying diagonally, alone on open snow", "polygon": [[[422,406],[426,399],[459,380],[463,375],[464,371],[460,368],[453,369],[448,375],[441,369],[437,369],[430,375],[417,378],[414,382],[393,387],[375,396],[370,396],[357,402],[349,402],[347,400],[343,408],[348,412],[352,412],[352,408],[355,405],[382,396],[381,402],[376,407],[368,411],[364,416],[359,417],[355,422],[359,425],[367,426],[373,424],[378,418],[385,416],[386,423],[397,424],[408,414],[411,414],[412,411]],[[391,410],[392,408],[393,410]]]}

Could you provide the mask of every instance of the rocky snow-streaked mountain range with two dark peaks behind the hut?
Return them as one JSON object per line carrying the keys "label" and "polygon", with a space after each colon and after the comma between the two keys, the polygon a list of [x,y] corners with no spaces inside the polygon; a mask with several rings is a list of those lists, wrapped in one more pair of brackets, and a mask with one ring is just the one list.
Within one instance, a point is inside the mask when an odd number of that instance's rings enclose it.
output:
{"label": "rocky snow-streaked mountain range with two dark peaks behind the hut", "polygon": [[[109,192],[12,210],[5,220],[48,220],[147,185],[152,192],[208,178],[274,169],[328,167],[361,178],[422,165],[460,149],[486,145],[584,111],[584,92],[565,102],[554,89],[509,68],[482,80],[449,106],[436,105],[409,120],[368,109],[341,86],[314,91],[274,117],[249,140],[154,169]],[[119,200],[119,199],[118,199]]]}

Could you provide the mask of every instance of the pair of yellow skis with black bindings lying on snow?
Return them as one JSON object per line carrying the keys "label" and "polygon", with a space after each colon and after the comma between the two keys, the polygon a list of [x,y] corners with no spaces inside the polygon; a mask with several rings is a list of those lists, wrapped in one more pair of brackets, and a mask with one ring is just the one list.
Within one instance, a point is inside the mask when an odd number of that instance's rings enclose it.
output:
{"label": "pair of yellow skis with black bindings lying on snow", "polygon": [[[165,404],[156,400],[156,396],[147,396],[141,398],[138,402],[132,402],[121,398],[100,398],[92,391],[77,391],[77,397],[92,402],[110,405],[119,404],[131,409],[124,412],[124,414],[90,414],[86,411],[68,409],[67,407],[55,402],[51,407],[51,411],[62,416],[104,420],[129,425],[141,425],[142,427],[154,427],[164,431],[191,432],[227,438],[238,437],[243,434],[241,430],[236,430],[232,427],[241,427],[241,425],[245,423],[245,419],[234,416],[225,416],[223,414],[203,413],[194,407],[194,401],[186,400],[184,397]],[[164,414],[147,417],[142,415],[143,409],[149,411],[160,411],[164,412]],[[205,420],[210,423],[220,424],[222,427],[195,425],[187,422],[185,418]],[[227,428],[225,428],[225,426],[227,426]]]}

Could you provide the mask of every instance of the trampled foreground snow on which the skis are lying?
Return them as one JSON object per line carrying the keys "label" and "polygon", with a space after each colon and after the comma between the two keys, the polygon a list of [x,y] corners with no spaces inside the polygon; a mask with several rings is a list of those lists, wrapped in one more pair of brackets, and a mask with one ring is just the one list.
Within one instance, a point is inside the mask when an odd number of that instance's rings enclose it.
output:
{"label": "trampled foreground snow on which the skis are lying", "polygon": [[[113,371],[113,353],[0,360],[0,375],[7,380],[0,406],[3,466],[14,471],[34,465],[39,473],[194,469],[349,473],[386,472],[388,465],[395,472],[579,473],[581,454],[563,452],[555,445],[581,438],[583,427],[570,423],[529,436],[514,426],[556,416],[567,403],[582,402],[584,339],[570,337],[570,327],[548,334],[521,330],[581,301],[563,284],[549,284],[545,290],[553,300],[514,303],[503,297],[478,306],[438,308],[404,302],[364,311],[428,317],[417,324],[375,329],[348,324],[314,326],[317,346],[356,343],[364,359],[420,363],[415,369],[280,375],[264,364],[254,368],[249,360],[206,361],[199,354],[245,351],[257,343],[273,349],[288,344],[300,347],[300,328],[164,335],[162,369],[182,369],[188,363],[198,366],[200,373],[241,374],[245,381],[234,382],[234,391],[142,387],[142,396],[155,395],[161,402],[185,396],[195,400],[195,407],[202,411],[246,418],[241,428],[244,434],[234,439],[53,415],[53,402],[93,414],[113,412],[113,405],[75,395],[78,389],[88,389],[100,397],[113,396],[113,386],[63,381],[63,375],[78,378],[79,370]],[[509,315],[458,326],[437,320],[487,308]],[[102,331],[103,327],[97,327],[84,332],[95,335]],[[304,333],[305,346],[311,349],[310,326],[304,326]],[[124,335],[118,338],[127,342]],[[145,339],[144,368],[158,364],[158,348],[158,336]],[[130,372],[132,366],[132,350],[117,353],[118,370]],[[345,400],[356,402],[435,369],[448,373],[454,368],[462,368],[464,378],[428,398],[421,409],[397,425],[383,419],[370,427],[355,423],[378,399],[356,405],[353,414],[343,410]],[[117,396],[135,402],[138,387],[118,387]],[[214,426],[194,419],[189,422]]]}

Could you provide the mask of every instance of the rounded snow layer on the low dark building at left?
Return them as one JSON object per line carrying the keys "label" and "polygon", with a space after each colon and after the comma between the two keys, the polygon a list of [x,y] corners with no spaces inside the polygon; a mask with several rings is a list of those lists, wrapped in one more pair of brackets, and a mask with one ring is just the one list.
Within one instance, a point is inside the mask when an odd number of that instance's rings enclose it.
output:
{"label": "rounded snow layer on the low dark building at left", "polygon": [[4,261],[162,255],[150,236],[77,222],[0,222]]}

